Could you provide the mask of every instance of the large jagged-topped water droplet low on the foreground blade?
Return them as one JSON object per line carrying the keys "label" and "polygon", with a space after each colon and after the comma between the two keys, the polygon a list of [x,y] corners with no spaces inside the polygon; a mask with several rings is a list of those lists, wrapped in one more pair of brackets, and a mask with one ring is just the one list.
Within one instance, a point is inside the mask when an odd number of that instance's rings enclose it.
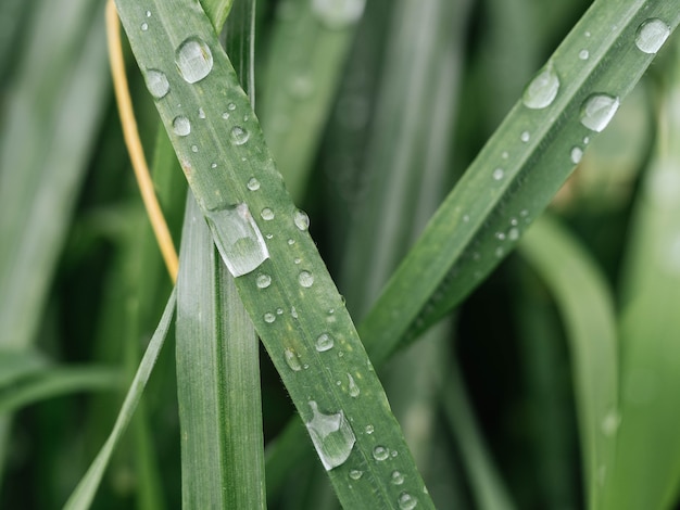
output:
{"label": "large jagged-topped water droplet low on the foreground blade", "polygon": [[339,412],[324,415],[318,410],[314,400],[310,400],[312,408],[312,420],[305,423],[316,452],[322,459],[326,471],[329,471],[344,463],[350,457],[356,437],[352,428],[344,418],[344,413]]}

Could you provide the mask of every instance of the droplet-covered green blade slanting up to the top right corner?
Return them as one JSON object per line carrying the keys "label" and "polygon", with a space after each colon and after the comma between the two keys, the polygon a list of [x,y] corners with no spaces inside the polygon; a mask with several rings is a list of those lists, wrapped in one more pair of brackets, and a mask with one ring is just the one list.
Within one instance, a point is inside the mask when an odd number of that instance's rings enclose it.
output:
{"label": "droplet-covered green blade slanting up to the top right corner", "polygon": [[[680,2],[602,1],[583,15],[525,92],[533,107],[513,107],[362,323],[376,360],[457,305],[514,247],[654,58],[635,43],[650,18],[669,34]],[[610,107],[593,115],[597,105]]]}

